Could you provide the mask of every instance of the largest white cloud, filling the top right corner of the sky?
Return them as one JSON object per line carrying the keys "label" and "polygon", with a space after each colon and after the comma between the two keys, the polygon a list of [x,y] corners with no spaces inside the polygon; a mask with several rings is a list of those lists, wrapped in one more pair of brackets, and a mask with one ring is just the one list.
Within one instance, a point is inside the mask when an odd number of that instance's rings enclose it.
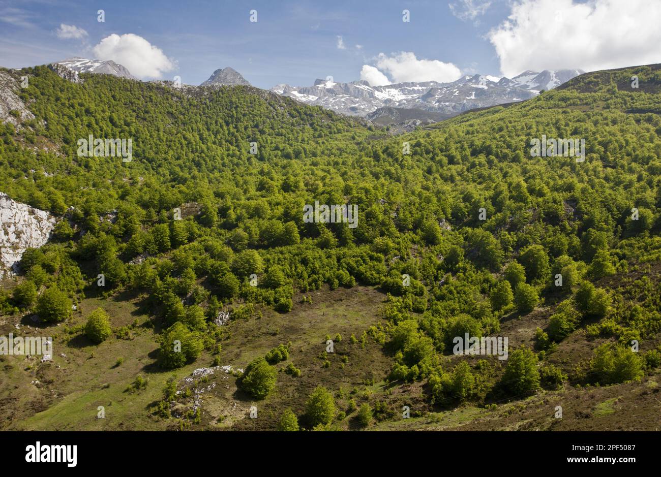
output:
{"label": "largest white cloud, filling the top right corner of the sky", "polygon": [[518,0],[488,39],[507,77],[526,69],[597,69],[659,63],[661,3]]}

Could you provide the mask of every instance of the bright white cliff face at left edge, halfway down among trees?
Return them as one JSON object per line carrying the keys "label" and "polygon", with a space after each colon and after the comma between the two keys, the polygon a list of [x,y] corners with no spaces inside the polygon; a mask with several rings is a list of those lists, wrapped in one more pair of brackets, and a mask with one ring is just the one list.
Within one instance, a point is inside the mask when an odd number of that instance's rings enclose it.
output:
{"label": "bright white cliff face at left edge, halfway down among trees", "polygon": [[0,279],[17,271],[27,248],[48,242],[55,223],[48,212],[15,202],[0,192]]}

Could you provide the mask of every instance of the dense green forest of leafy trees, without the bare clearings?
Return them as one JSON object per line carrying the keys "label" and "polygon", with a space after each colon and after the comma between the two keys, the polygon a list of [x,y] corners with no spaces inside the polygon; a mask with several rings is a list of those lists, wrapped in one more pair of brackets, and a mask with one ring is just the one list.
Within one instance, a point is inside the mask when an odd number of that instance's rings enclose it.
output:
{"label": "dense green forest of leafy trees, without the bare clearings", "polygon": [[[137,293],[170,373],[209,365],[204,353],[225,363],[233,322],[370,287],[383,295],[379,322],[328,340],[376,346],[390,363],[384,385],[418,383],[436,410],[659,372],[661,69],[587,73],[404,135],[253,87],[3,71],[29,77],[20,98],[36,117],[0,125],[0,191],[58,217],[0,289],[3,315],[70,324],[86,298]],[[90,135],[131,139],[132,161],[81,157]],[[531,155],[543,136],[584,139],[585,160]],[[355,227],[304,220],[315,202],[356,206]],[[501,336],[540,309],[533,345],[510,340],[508,359],[453,355],[453,338]],[[103,307],[82,318],[59,333],[98,352],[131,332]],[[579,332],[594,346],[563,363],[559,346]],[[301,374],[290,353],[283,343],[242,363],[237,386],[268,398],[279,367]],[[340,408],[335,389],[314,385],[272,425],[333,429],[355,412],[368,427],[401,414],[356,396]],[[168,381],[165,420],[175,392]]]}

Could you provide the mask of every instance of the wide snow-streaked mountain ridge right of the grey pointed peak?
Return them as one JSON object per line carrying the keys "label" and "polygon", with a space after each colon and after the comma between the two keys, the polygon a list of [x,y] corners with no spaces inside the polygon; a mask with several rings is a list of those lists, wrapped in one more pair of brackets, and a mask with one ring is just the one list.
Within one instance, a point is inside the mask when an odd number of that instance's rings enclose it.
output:
{"label": "wide snow-streaked mountain ridge right of the grey pointed peak", "polygon": [[397,83],[370,86],[367,81],[335,83],[317,79],[311,87],[276,85],[271,88],[305,104],[323,106],[352,116],[368,116],[379,108],[415,108],[455,116],[463,111],[532,98],[584,73],[580,70],[525,71],[508,79],[466,75],[451,83]]}

